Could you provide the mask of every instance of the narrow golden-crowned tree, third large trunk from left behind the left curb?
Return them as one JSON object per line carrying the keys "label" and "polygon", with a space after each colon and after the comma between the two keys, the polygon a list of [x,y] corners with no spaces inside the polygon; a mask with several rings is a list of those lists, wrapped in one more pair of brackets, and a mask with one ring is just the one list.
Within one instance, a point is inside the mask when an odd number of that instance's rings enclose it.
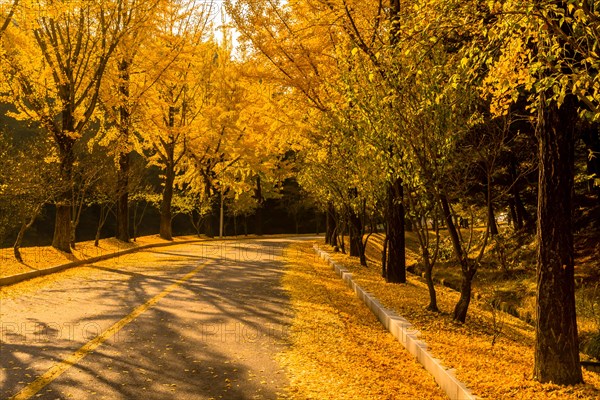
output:
{"label": "narrow golden-crowned tree, third large trunk from left behind the left curb", "polygon": [[[214,41],[209,40],[206,9],[174,8],[162,15],[155,37],[156,56],[169,60],[144,97],[144,119],[140,127],[151,164],[162,170],[160,236],[172,238],[171,201],[175,180],[187,154],[192,135],[199,133],[206,112],[207,86],[210,86]],[[173,58],[173,52],[176,58]]]}

